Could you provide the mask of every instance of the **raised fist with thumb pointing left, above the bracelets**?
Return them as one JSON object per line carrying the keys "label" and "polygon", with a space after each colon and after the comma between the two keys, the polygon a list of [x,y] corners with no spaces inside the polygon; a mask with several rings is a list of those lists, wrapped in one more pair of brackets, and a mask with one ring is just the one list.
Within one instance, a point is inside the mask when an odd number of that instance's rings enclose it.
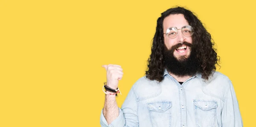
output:
{"label": "raised fist with thumb pointing left, above the bracelets", "polygon": [[107,86],[112,89],[117,89],[119,80],[122,79],[123,72],[120,65],[103,65],[107,71]]}

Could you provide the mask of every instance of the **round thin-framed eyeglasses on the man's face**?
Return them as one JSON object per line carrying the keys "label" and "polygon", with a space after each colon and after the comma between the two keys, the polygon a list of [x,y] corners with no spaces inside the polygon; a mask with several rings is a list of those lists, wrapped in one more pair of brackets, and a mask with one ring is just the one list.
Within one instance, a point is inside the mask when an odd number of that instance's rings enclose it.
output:
{"label": "round thin-framed eyeglasses on the man's face", "polygon": [[[166,30],[166,33],[163,33],[163,34],[166,34],[166,36],[168,38],[176,38],[177,35],[178,35],[178,30],[177,27],[169,27],[167,30]],[[181,28],[181,33],[182,35],[184,35],[185,37],[191,37],[193,35],[193,28],[192,26],[189,26],[189,25],[186,25],[186,26],[183,26]]]}

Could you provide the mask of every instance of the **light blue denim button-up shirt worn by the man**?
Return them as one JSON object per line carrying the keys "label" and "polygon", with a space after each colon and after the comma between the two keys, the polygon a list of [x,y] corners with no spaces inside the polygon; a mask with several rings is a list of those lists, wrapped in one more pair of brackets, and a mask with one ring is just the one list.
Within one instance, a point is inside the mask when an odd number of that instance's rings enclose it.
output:
{"label": "light blue denim button-up shirt worn by the man", "polygon": [[131,88],[119,116],[102,127],[243,127],[233,85],[214,72],[197,74],[182,85],[165,70],[163,81],[140,78]]}

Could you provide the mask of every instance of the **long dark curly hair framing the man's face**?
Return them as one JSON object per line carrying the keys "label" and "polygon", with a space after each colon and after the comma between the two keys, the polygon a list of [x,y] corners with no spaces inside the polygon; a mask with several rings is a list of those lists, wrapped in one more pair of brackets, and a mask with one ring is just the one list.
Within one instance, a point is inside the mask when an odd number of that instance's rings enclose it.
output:
{"label": "long dark curly hair framing the man's face", "polygon": [[212,71],[216,70],[215,64],[219,63],[219,56],[217,56],[216,49],[213,47],[215,43],[209,32],[204,28],[202,22],[191,11],[179,6],[166,10],[157,19],[157,28],[153,38],[151,55],[148,58],[148,69],[145,72],[145,77],[159,82],[163,80],[165,69],[163,59],[163,20],[170,14],[183,14],[189,25],[193,27],[192,42],[196,47],[196,57],[200,62],[198,72],[201,72],[202,78],[208,80],[209,75],[212,75]]}

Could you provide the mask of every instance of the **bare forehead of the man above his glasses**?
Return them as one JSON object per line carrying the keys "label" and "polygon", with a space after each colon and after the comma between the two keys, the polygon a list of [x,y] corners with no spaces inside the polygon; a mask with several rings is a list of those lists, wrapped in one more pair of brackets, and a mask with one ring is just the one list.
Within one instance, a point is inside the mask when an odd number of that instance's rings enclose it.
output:
{"label": "bare forehead of the man above his glasses", "polygon": [[166,31],[169,27],[181,27],[189,25],[183,14],[171,14],[163,20],[163,30]]}

